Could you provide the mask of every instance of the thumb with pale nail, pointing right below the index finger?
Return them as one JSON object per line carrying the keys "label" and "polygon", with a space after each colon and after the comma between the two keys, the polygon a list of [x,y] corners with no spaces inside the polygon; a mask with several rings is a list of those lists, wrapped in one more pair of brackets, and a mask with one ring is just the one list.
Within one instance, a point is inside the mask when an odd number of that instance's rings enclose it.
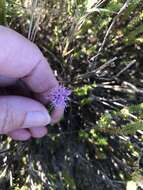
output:
{"label": "thumb with pale nail, pointing right below the index finger", "polygon": [[0,97],[0,134],[45,126],[50,120],[46,108],[35,100],[20,96]]}

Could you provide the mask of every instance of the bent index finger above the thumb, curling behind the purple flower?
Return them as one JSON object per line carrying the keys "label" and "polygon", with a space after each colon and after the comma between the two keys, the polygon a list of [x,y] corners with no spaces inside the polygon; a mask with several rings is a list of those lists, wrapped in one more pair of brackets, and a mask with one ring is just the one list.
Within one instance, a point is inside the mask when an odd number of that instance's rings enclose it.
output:
{"label": "bent index finger above the thumb, curling behind the purple flower", "polygon": [[[0,74],[22,79],[47,103],[49,90],[59,83],[41,51],[19,33],[3,26],[0,26],[0,44]],[[58,121],[63,112],[63,107],[55,108],[53,120]]]}

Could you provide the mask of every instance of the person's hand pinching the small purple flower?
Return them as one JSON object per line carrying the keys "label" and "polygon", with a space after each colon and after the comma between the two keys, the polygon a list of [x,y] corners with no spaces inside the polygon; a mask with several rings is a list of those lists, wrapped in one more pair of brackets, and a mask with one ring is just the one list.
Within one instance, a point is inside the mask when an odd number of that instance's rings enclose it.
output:
{"label": "person's hand pinching the small purple flower", "polygon": [[[58,86],[48,62],[32,42],[6,27],[0,26],[0,86],[22,80],[39,101],[22,96],[0,96],[0,134],[15,140],[40,138],[45,127],[63,115],[58,107],[49,115],[43,104],[49,89]],[[41,102],[41,103],[40,103]]]}

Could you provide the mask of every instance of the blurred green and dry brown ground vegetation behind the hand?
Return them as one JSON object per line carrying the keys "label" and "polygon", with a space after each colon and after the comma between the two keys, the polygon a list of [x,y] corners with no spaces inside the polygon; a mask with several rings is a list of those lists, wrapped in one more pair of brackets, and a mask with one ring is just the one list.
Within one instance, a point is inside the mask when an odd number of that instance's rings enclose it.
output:
{"label": "blurred green and dry brown ground vegetation behind the hand", "polygon": [[0,189],[143,189],[142,0],[0,0],[72,89],[40,140],[0,137]]}

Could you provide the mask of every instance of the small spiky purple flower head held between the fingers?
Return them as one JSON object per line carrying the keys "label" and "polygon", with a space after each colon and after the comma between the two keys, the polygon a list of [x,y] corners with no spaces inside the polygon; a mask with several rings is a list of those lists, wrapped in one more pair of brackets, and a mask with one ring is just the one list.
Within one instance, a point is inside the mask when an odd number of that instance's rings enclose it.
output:
{"label": "small spiky purple flower head held between the fingers", "polygon": [[48,99],[54,107],[66,107],[70,94],[71,91],[64,86],[58,86],[50,90]]}

